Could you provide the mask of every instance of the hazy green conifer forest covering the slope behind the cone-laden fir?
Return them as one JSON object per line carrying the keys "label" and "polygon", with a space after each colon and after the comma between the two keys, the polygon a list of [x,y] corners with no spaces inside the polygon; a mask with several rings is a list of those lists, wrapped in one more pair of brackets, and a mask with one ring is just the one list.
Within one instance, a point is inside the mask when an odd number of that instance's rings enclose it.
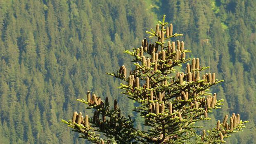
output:
{"label": "hazy green conifer forest covering the slope behind the cone-laden fir", "polygon": [[[225,80],[212,87],[226,100],[213,121],[233,112],[249,120],[228,143],[255,143],[255,7],[255,0],[0,0],[0,144],[85,143],[61,119],[90,114],[76,101],[88,90],[118,99],[136,118],[128,109],[136,103],[105,73],[132,66],[123,50],[139,47],[163,14],[193,57]],[[135,124],[144,128],[139,117]]]}

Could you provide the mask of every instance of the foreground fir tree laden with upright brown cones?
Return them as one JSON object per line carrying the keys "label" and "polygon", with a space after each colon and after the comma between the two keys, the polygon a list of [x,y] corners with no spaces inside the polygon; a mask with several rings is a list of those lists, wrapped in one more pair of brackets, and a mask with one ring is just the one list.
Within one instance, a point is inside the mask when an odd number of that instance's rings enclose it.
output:
{"label": "foreground fir tree laden with upright brown cones", "polygon": [[211,86],[223,80],[218,80],[215,73],[204,73],[209,67],[201,66],[199,58],[186,57],[191,51],[183,41],[173,40],[182,34],[173,33],[173,25],[165,22],[165,15],[158,22],[155,30],[146,31],[156,42],[149,43],[145,38],[141,47],[125,51],[134,57],[135,69],[128,71],[123,65],[117,73],[107,73],[124,81],[119,88],[138,103],[133,111],[140,113],[147,128],[139,130],[133,125],[136,117],[122,116],[117,100],[110,106],[108,97],[103,101],[88,91],[87,100],[77,100],[88,104],[86,109],[95,110],[93,117],[75,111],[71,120],[62,120],[81,133],[81,138],[101,144],[215,144],[225,143],[225,138],[245,127],[248,121],[233,113],[218,120],[216,127],[197,132],[202,127],[195,123],[210,120],[209,113],[223,105],[223,99],[209,93]]}

